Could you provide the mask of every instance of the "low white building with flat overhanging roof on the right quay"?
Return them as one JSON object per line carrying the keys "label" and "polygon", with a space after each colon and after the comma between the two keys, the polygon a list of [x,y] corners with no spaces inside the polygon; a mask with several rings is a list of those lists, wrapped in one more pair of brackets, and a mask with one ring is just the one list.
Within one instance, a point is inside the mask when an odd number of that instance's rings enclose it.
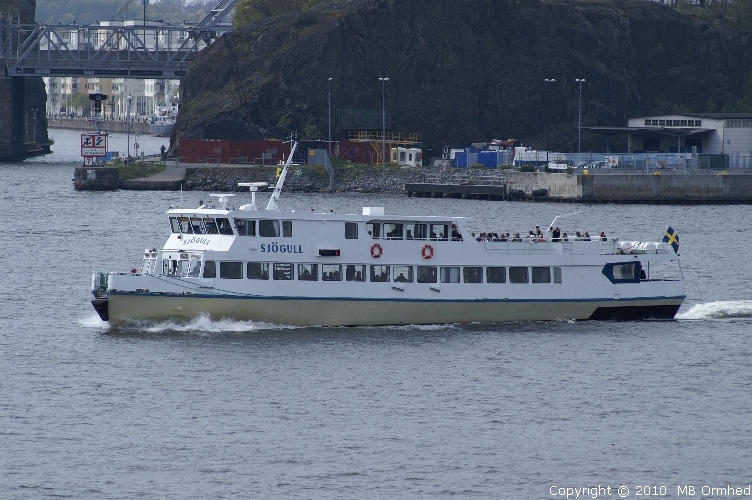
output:
{"label": "low white building with flat overhanging roof on the right quay", "polygon": [[[583,127],[585,128],[585,127]],[[631,118],[626,127],[587,127],[627,135],[627,153],[752,153],[752,113],[673,113]]]}

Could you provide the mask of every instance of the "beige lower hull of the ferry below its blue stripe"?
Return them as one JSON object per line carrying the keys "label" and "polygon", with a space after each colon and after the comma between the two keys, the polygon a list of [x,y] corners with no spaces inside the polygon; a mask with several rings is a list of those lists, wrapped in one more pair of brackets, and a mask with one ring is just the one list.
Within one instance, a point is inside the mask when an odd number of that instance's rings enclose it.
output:
{"label": "beige lower hull of the ferry below its blue stripe", "polygon": [[582,301],[413,301],[310,298],[215,298],[110,294],[109,321],[230,318],[295,326],[356,326],[470,322],[666,319],[683,297]]}

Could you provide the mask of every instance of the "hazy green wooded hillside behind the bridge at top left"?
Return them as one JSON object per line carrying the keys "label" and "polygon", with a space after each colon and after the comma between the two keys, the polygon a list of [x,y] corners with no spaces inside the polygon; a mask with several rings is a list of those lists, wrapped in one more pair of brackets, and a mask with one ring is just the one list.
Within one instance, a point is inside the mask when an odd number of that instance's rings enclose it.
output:
{"label": "hazy green wooded hillside behind the bridge at top left", "polygon": [[[218,0],[150,0],[146,19],[182,24],[197,22]],[[91,24],[95,21],[143,19],[143,0],[37,0],[36,21],[43,24]]]}

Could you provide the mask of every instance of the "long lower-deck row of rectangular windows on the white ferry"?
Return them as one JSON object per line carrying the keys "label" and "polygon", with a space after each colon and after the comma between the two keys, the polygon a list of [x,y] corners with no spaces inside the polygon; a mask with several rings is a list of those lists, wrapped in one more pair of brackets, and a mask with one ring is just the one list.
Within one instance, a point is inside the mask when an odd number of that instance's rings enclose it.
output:
{"label": "long lower-deck row of rectangular windows on the white ferry", "polygon": [[[245,265],[244,265],[245,264]],[[301,281],[371,281],[394,283],[561,283],[560,267],[438,267],[364,264],[292,264],[288,262],[163,261],[167,275],[204,278]],[[344,272],[343,272],[344,270]],[[148,271],[148,270],[147,270]],[[219,273],[217,272],[219,271]],[[319,271],[321,273],[319,274]]]}

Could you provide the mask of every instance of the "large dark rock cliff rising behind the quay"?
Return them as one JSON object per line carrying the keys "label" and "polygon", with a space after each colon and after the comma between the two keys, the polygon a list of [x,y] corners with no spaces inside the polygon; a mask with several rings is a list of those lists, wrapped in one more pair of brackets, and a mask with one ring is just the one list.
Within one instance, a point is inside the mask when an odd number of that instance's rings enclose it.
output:
{"label": "large dark rock cliff rising behind the quay", "polygon": [[[201,53],[173,143],[325,136],[329,78],[333,110],[380,110],[389,77],[391,130],[421,134],[433,155],[491,138],[545,148],[549,124],[551,148],[576,151],[576,79],[583,127],[716,112],[752,84],[750,49],[749,32],[641,0],[341,1],[251,23]],[[583,131],[583,151],[605,146]]]}

